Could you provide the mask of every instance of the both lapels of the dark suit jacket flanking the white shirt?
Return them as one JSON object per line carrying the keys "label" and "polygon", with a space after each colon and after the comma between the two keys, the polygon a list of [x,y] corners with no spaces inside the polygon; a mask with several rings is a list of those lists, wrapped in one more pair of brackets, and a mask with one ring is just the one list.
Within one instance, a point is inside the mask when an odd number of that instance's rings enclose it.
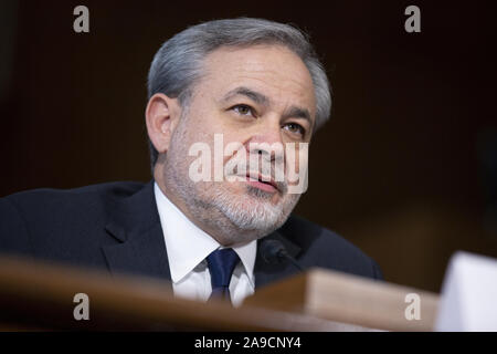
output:
{"label": "both lapels of the dark suit jacket flanking the white shirt", "polygon": [[[123,199],[109,208],[109,220],[106,231],[118,243],[104,246],[103,252],[113,274],[135,273],[171,281],[168,256],[160,226],[154,192],[154,180],[136,194]],[[275,231],[266,238],[281,241],[287,252],[296,258],[300,247]],[[298,272],[293,264],[284,261],[269,264],[257,254],[254,266],[255,288],[293,275]]]}

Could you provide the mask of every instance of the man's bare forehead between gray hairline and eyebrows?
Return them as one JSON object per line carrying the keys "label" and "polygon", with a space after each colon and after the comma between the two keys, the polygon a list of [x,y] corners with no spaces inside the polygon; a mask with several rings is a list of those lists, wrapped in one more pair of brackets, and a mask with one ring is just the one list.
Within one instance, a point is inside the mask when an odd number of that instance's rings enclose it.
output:
{"label": "man's bare forehead between gray hairline and eyebrows", "polygon": [[282,45],[220,48],[203,63],[204,88],[222,95],[246,86],[275,104],[305,106],[315,114],[315,93],[309,71],[300,58]]}

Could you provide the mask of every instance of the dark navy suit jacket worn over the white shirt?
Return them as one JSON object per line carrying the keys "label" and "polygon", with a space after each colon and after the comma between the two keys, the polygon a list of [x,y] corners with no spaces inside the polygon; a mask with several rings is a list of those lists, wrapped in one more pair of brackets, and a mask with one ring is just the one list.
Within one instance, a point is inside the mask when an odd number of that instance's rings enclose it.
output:
{"label": "dark navy suit jacket worn over the white shirt", "polygon": [[[303,268],[381,279],[377,263],[340,236],[292,216],[276,232]],[[154,181],[71,190],[36,189],[0,198],[0,252],[170,280]],[[257,253],[256,288],[298,272]]]}

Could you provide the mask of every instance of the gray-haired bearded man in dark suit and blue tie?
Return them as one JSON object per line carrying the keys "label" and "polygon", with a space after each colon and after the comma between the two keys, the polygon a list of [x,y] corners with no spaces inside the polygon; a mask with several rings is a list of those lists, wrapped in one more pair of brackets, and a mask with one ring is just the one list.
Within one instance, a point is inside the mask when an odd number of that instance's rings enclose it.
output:
{"label": "gray-haired bearded man in dark suit and blue tie", "polygon": [[[148,93],[154,180],[0,199],[3,252],[159,277],[179,296],[221,295],[234,305],[298,271],[271,257],[278,248],[304,269],[381,279],[356,247],[289,217],[305,189],[294,188],[303,174],[290,180],[289,171],[306,170],[306,148],[331,105],[326,73],[302,32],[258,19],[189,28],[157,52]],[[205,178],[194,178],[195,144],[214,152],[207,158],[214,164],[201,166]],[[237,148],[226,154],[230,144]],[[258,167],[264,162],[269,168]],[[220,166],[222,178],[212,177]]]}

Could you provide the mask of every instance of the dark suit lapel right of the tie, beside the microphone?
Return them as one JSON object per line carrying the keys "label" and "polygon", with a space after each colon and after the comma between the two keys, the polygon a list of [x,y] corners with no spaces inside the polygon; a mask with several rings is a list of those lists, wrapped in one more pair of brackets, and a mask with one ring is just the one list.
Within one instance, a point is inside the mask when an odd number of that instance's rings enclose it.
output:
{"label": "dark suit lapel right of the tie, beside the microphone", "polygon": [[[275,231],[265,238],[278,240],[285,246],[286,251],[294,258],[300,253],[300,247],[289,239],[285,238],[279,231]],[[278,264],[267,263],[260,254],[261,242],[257,241],[257,256],[255,259],[254,277],[255,289],[262,288],[274,281],[282,280],[286,277],[298,273],[298,270],[288,261],[283,261]]]}

